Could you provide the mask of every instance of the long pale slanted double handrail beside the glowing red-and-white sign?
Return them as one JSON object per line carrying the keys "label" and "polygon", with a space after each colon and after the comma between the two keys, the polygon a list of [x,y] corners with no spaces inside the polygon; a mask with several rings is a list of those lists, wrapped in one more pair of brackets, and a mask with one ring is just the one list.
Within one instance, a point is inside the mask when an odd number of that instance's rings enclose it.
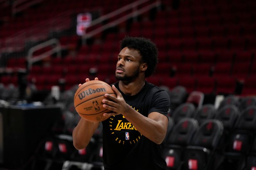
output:
{"label": "long pale slanted double handrail beside the glowing red-and-white sign", "polygon": [[103,22],[106,19],[109,19],[111,17],[117,16],[117,15],[119,15],[119,14],[125,12],[125,11],[132,10],[131,13],[129,13],[129,14],[121,17],[121,18],[118,18],[118,19],[116,19],[116,20],[114,20],[114,21],[112,21],[112,22],[110,22],[110,23],[108,23],[106,25],[100,26],[99,28],[96,28],[96,29],[92,30],[91,32],[86,32],[85,35],[82,36],[83,43],[85,44],[86,43],[86,39],[91,38],[93,35],[96,35],[96,34],[102,32],[102,31],[104,31],[104,30],[106,30],[106,29],[108,29],[110,27],[116,26],[116,25],[118,25],[118,24],[120,24],[120,23],[122,23],[122,22],[124,22],[124,21],[126,21],[128,19],[130,19],[130,18],[134,18],[134,17],[136,17],[136,16],[138,16],[138,15],[140,15],[140,14],[146,12],[146,11],[149,11],[149,10],[151,10],[153,8],[160,7],[160,5],[161,5],[160,0],[156,0],[156,2],[154,2],[152,4],[144,6],[141,9],[137,9],[137,7],[139,5],[141,5],[141,4],[145,3],[145,2],[148,2],[148,1],[149,0],[139,0],[139,1],[133,2],[132,4],[128,4],[128,5],[120,8],[120,9],[118,9],[116,11],[113,11],[113,12],[107,14],[107,15],[104,15],[104,16],[102,16],[102,17],[92,21],[92,24],[90,25],[90,27],[95,26],[95,25]]}

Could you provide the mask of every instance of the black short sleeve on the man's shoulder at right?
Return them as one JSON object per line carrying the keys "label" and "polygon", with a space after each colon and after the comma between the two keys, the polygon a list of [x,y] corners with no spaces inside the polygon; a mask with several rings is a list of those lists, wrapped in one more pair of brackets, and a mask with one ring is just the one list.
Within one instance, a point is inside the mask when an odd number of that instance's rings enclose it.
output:
{"label": "black short sleeve on the man's shoulder at right", "polygon": [[170,97],[165,90],[159,90],[152,96],[151,107],[148,114],[158,112],[167,116],[170,107]]}

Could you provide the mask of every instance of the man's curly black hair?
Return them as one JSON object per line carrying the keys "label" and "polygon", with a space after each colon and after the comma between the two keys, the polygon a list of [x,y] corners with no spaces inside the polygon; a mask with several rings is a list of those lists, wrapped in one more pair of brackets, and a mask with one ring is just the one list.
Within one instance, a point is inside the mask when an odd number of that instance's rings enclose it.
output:
{"label": "man's curly black hair", "polygon": [[125,36],[120,42],[120,50],[123,48],[132,48],[138,50],[144,63],[148,63],[148,69],[145,71],[145,77],[150,77],[156,70],[158,62],[158,50],[156,44],[143,37]]}

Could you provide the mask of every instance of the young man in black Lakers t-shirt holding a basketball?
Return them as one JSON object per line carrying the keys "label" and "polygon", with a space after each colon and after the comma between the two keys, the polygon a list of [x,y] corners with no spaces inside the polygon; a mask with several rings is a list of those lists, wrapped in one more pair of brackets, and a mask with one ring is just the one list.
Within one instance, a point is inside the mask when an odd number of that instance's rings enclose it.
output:
{"label": "young man in black Lakers t-shirt holding a basketball", "polygon": [[[103,163],[105,170],[164,170],[160,145],[168,126],[170,98],[164,90],[145,81],[157,63],[156,45],[145,38],[125,37],[112,85],[117,97],[105,94]],[[98,78],[95,78],[98,80]],[[89,81],[87,78],[86,81]],[[99,123],[81,119],[73,131],[74,146],[87,146]]]}

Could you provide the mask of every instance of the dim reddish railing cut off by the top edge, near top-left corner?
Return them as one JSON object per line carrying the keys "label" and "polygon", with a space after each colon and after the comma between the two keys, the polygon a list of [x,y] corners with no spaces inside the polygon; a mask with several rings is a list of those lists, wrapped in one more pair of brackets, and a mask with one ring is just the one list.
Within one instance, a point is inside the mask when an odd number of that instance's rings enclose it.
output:
{"label": "dim reddish railing cut off by the top edge, near top-left corner", "polygon": [[17,0],[12,4],[12,15],[15,15],[17,12],[23,11],[30,6],[38,4],[42,1],[44,0]]}

